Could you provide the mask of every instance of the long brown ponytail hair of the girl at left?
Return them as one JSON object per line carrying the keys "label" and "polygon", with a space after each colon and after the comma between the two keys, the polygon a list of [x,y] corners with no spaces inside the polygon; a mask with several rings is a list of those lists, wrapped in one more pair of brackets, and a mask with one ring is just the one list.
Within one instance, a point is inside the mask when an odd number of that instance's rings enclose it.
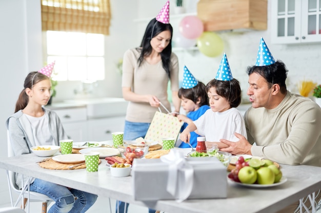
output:
{"label": "long brown ponytail hair of the girl at left", "polygon": [[26,93],[26,88],[32,89],[33,85],[36,83],[49,79],[46,75],[38,72],[31,72],[25,79],[24,89],[20,92],[17,102],[15,103],[14,112],[24,109],[28,102],[29,96]]}

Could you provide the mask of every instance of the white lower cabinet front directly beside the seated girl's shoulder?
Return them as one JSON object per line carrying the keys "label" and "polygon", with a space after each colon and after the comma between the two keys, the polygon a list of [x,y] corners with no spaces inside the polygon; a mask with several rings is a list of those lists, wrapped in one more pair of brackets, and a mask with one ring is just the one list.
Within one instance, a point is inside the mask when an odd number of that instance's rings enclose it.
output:
{"label": "white lower cabinet front directly beside the seated girl's shoulder", "polygon": [[70,139],[74,141],[88,140],[87,110],[84,107],[54,109],[59,116]]}

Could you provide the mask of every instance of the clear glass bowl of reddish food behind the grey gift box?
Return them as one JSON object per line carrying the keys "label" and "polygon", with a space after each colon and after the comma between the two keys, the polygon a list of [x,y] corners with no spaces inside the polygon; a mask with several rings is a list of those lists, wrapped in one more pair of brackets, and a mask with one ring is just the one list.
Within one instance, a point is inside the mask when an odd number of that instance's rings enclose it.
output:
{"label": "clear glass bowl of reddish food behind the grey gift box", "polygon": [[146,144],[131,144],[126,147],[119,145],[117,148],[124,158],[142,158],[147,154],[149,146]]}

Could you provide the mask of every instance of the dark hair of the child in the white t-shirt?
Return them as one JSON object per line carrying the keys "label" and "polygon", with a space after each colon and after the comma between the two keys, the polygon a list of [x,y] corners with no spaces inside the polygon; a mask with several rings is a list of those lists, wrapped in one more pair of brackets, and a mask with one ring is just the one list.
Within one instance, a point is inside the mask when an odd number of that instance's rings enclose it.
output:
{"label": "dark hair of the child in the white t-shirt", "polygon": [[216,93],[230,103],[231,107],[238,107],[241,101],[241,90],[239,82],[234,78],[231,81],[211,80],[206,85],[206,93],[215,87]]}

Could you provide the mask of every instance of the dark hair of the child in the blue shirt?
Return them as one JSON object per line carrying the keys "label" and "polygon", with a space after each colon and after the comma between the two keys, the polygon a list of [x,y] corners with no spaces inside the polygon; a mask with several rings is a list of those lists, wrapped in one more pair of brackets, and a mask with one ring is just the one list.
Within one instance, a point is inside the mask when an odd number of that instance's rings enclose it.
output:
{"label": "dark hair of the child in the blue shirt", "polygon": [[205,84],[203,82],[198,82],[198,84],[189,89],[179,88],[178,98],[186,98],[192,100],[195,104],[199,98],[198,106],[209,105],[207,93],[205,91]]}

